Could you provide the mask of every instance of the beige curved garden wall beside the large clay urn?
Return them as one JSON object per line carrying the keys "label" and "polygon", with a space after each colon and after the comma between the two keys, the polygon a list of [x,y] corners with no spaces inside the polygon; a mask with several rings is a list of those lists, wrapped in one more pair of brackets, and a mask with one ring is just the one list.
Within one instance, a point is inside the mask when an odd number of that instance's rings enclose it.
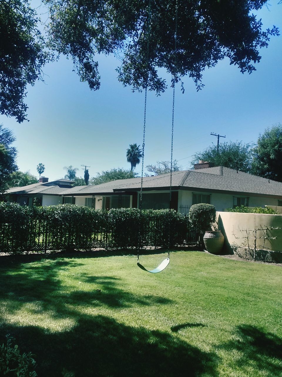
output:
{"label": "beige curved garden wall beside the large clay urn", "polygon": [[[255,228],[279,227],[277,230],[269,230],[267,234],[277,239],[257,239],[257,248],[282,252],[282,216],[265,215],[259,213],[237,213],[237,212],[217,212],[218,229],[221,230],[225,237],[224,248],[226,251],[231,250],[231,245],[243,247],[247,240],[246,230],[249,237],[254,237]],[[257,231],[257,237],[264,236],[263,231]],[[254,240],[250,239],[250,247],[254,247]]]}

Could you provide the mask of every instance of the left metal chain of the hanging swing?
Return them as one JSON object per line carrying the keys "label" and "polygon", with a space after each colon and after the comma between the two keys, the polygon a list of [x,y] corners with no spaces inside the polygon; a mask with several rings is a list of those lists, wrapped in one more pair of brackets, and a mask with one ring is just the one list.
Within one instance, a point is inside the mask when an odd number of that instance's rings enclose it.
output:
{"label": "left metal chain of the hanging swing", "polygon": [[[146,65],[148,69],[149,65],[149,43],[150,43],[150,23],[151,23],[151,0],[148,6],[148,26],[147,26],[147,56]],[[140,220],[139,220],[139,247],[137,254],[137,263],[139,263],[139,251],[141,249],[141,215],[142,215],[142,198],[143,198],[143,174],[144,174],[144,149],[145,149],[145,131],[146,131],[146,108],[147,108],[147,87],[148,87],[149,73],[147,71],[146,76],[146,87],[145,87],[145,103],[144,103],[144,126],[143,126],[143,144],[142,144],[142,168],[141,168],[141,188],[140,188],[140,200],[139,200],[139,210],[140,210]]]}

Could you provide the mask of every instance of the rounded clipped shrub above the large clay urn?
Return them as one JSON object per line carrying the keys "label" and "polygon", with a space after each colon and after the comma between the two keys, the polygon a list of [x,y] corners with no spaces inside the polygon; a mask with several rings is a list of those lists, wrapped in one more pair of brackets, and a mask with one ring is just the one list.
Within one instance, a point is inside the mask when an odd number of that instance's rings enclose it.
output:
{"label": "rounded clipped shrub above the large clay urn", "polygon": [[215,222],[215,215],[215,206],[212,204],[193,204],[189,210],[191,226],[199,232],[209,230],[211,224]]}

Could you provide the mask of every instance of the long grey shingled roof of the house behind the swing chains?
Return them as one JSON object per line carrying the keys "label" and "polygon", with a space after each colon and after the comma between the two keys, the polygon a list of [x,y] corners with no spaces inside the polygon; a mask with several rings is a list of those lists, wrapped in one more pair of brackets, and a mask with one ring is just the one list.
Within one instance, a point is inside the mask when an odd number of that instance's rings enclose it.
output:
{"label": "long grey shingled roof of the house behind the swing chains", "polygon": [[[173,190],[197,190],[229,194],[275,196],[282,198],[282,183],[223,166],[172,173]],[[100,185],[65,189],[61,195],[111,195],[139,191],[141,178],[118,179]],[[170,173],[143,178],[144,190],[169,190]]]}

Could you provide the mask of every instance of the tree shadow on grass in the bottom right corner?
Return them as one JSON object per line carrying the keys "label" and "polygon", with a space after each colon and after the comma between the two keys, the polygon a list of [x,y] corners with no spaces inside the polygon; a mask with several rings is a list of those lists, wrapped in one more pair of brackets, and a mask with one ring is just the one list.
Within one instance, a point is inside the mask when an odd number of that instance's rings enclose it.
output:
{"label": "tree shadow on grass in the bottom right corner", "polygon": [[246,368],[246,375],[250,375],[252,368],[261,371],[261,375],[282,375],[282,339],[275,334],[255,326],[237,326],[234,339],[220,348],[232,353],[234,350],[240,352],[236,365]]}

